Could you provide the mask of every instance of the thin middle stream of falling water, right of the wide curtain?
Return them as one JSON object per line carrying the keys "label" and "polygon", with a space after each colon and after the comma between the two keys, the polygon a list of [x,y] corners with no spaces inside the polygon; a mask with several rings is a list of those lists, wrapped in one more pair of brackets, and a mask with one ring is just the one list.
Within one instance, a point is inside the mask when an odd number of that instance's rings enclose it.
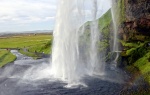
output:
{"label": "thin middle stream of falling water, right of the wide curtain", "polygon": [[91,74],[102,74],[104,72],[104,63],[100,62],[100,54],[98,52],[98,41],[100,40],[100,31],[97,20],[97,0],[93,0],[93,9],[91,22],[91,46],[90,46],[90,64]]}

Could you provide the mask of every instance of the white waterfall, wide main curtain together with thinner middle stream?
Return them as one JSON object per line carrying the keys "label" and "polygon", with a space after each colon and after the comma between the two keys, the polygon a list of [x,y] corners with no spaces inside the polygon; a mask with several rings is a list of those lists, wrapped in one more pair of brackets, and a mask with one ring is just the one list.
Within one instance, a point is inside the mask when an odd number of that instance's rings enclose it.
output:
{"label": "white waterfall, wide main curtain together with thinner middle stream", "polygon": [[[92,2],[90,0],[93,21],[90,25],[89,54],[82,54],[82,50],[85,48],[79,45],[80,36],[86,32],[84,28],[81,29],[81,25],[86,21],[85,2],[84,0],[59,0],[56,26],[53,33],[51,73],[55,78],[67,81],[69,84],[79,83],[82,77],[88,75],[89,72],[92,75],[95,73],[101,75],[104,72],[104,63],[100,61],[97,45],[100,40],[100,31],[96,20],[97,0],[92,0]],[[84,45],[85,43],[82,46]]]}

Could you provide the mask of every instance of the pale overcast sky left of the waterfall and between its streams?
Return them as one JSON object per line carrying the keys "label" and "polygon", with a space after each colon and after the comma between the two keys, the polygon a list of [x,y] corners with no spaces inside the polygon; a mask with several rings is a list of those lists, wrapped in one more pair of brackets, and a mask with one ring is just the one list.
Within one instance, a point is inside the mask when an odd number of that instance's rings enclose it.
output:
{"label": "pale overcast sky left of the waterfall and between its streams", "polygon": [[[88,11],[87,1],[87,16]],[[107,0],[98,0],[100,6],[108,9]],[[109,0],[108,0],[109,1]],[[106,6],[107,4],[107,6]],[[0,32],[52,30],[57,10],[57,0],[0,0]],[[99,13],[101,12],[99,9]]]}

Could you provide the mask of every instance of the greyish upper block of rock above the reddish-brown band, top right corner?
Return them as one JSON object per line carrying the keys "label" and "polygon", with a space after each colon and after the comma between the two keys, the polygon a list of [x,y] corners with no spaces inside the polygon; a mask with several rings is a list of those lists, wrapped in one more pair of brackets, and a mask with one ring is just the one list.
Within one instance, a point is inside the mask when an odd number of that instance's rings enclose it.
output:
{"label": "greyish upper block of rock above the reddish-brown band, top right corner", "polygon": [[128,21],[139,18],[150,18],[150,0],[125,0],[126,18]]}

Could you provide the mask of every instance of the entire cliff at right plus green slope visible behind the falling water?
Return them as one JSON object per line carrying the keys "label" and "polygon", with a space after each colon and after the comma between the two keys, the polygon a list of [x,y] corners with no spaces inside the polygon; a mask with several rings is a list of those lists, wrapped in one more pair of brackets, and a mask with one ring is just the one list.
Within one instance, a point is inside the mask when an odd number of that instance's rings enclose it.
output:
{"label": "entire cliff at right plus green slope visible behind the falling water", "polygon": [[[119,57],[120,66],[131,73],[142,74],[150,83],[150,0],[115,0],[114,17],[122,50]],[[81,37],[81,43],[89,43],[90,25],[85,26],[85,35]],[[107,51],[105,61],[111,61],[114,54],[111,52],[113,39],[113,22],[111,10],[98,19],[101,36],[100,52]],[[86,51],[85,51],[86,54]],[[109,62],[108,62],[109,63]]]}

